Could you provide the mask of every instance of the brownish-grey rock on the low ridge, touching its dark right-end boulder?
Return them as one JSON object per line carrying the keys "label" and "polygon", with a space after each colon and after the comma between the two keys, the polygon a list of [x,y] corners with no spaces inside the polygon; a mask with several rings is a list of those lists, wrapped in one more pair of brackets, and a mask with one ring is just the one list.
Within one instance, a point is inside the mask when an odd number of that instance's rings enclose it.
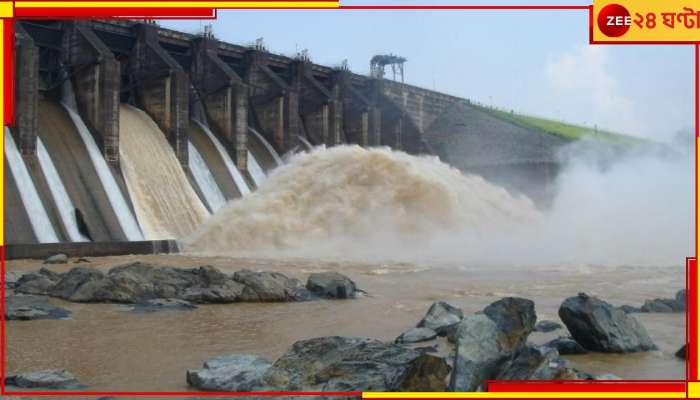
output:
{"label": "brownish-grey rock on the low ridge, touching its dark right-end boulder", "polygon": [[277,272],[238,271],[233,280],[245,285],[243,301],[303,301],[311,300],[311,293],[298,279]]}

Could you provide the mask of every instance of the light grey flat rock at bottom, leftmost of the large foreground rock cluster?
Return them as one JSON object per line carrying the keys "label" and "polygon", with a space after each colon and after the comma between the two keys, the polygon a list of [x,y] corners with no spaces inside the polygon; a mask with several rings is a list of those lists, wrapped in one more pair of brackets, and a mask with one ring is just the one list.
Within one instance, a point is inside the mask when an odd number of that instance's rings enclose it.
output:
{"label": "light grey flat rock at bottom, leftmost of the large foreground rock cluster", "polygon": [[187,383],[198,389],[252,392],[264,389],[263,376],[272,363],[262,357],[231,354],[214,357],[203,369],[188,370]]}

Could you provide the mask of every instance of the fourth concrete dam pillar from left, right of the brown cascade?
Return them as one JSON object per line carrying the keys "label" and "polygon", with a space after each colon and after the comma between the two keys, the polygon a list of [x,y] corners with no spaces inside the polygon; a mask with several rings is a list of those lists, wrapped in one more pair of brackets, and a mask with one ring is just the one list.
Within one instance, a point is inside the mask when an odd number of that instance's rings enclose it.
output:
{"label": "fourth concrete dam pillar from left, right of the brown cascade", "polygon": [[207,120],[212,129],[234,147],[236,166],[245,171],[248,166],[248,87],[219,58],[214,40],[195,39],[192,50],[192,81],[203,102]]}

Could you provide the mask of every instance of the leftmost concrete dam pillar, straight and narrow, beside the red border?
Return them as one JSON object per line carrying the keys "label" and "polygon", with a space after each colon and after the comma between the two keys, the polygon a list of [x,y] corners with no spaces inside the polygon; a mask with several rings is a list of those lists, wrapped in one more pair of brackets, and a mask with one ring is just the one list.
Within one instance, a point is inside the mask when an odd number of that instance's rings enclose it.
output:
{"label": "leftmost concrete dam pillar, straight and narrow, beside the red border", "polygon": [[36,154],[39,124],[39,49],[19,26],[15,40],[15,127],[12,131],[20,152],[33,155]]}

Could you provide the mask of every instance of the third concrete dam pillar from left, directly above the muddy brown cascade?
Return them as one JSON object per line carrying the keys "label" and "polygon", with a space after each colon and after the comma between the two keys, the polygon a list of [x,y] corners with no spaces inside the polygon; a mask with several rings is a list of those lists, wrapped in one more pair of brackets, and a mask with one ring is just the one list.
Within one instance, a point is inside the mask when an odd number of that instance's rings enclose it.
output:
{"label": "third concrete dam pillar from left, directly above the muddy brown cascade", "polygon": [[130,57],[139,106],[158,124],[175,150],[183,168],[188,168],[187,128],[189,90],[187,73],[161,46],[155,27],[134,27],[137,41]]}

